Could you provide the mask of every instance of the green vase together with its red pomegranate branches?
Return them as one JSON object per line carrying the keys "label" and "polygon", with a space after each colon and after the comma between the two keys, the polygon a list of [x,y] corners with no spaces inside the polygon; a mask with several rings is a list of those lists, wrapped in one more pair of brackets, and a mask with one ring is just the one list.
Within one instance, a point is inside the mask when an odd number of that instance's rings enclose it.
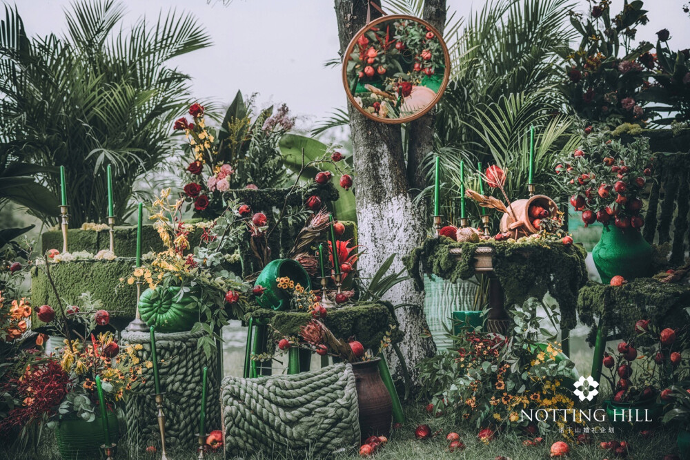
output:
{"label": "green vase together with its red pomegranate branches", "polygon": [[592,251],[597,271],[604,284],[616,275],[627,280],[646,276],[652,250],[640,229],[642,193],[653,168],[649,140],[640,137],[623,144],[611,140],[609,131],[580,125],[580,146],[560,158],[555,174],[582,213],[582,222],[604,225]]}

